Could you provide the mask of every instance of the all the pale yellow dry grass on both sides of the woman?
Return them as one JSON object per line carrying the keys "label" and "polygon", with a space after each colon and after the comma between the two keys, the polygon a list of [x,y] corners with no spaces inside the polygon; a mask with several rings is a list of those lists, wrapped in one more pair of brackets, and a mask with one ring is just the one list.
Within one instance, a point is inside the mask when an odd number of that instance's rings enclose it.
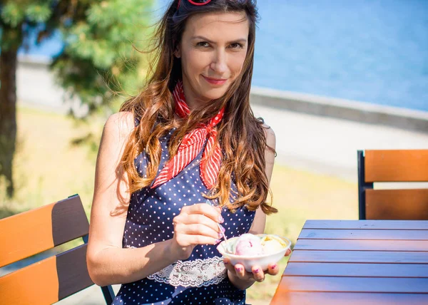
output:
{"label": "all the pale yellow dry grass on both sides of the woman", "polygon": [[[0,181],[0,218],[33,209],[78,193],[88,213],[93,195],[96,147],[71,145],[89,133],[98,143],[103,119],[76,124],[55,113],[20,107],[19,148],[14,160],[16,196],[6,200]],[[357,219],[357,185],[335,177],[275,165],[272,175],[274,206],[266,232],[294,243],[306,219]],[[4,195],[3,195],[4,196]],[[280,262],[280,274],[287,258]],[[269,304],[280,274],[248,289],[250,304]]]}

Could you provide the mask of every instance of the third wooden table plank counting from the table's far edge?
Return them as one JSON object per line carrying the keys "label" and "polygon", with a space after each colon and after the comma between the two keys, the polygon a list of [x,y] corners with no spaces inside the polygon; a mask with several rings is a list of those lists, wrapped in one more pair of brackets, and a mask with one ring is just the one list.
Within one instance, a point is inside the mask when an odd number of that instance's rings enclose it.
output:
{"label": "third wooden table plank counting from the table's far edge", "polygon": [[294,249],[428,252],[428,240],[299,239]]}

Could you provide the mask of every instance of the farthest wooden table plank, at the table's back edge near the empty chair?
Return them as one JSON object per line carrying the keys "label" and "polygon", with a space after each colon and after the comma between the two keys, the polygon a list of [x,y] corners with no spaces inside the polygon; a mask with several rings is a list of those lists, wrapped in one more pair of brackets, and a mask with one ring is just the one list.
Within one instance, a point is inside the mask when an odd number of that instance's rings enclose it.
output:
{"label": "farthest wooden table plank, at the table's back edge near the empty chair", "polygon": [[424,220],[307,220],[303,229],[428,229]]}

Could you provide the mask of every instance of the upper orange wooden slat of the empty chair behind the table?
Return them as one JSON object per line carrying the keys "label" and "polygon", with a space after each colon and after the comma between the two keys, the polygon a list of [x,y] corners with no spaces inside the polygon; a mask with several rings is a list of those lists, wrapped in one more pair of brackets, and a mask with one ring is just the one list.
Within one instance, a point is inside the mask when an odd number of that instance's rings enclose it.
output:
{"label": "upper orange wooden slat of the empty chair behind the table", "polygon": [[428,150],[365,150],[365,182],[428,181]]}

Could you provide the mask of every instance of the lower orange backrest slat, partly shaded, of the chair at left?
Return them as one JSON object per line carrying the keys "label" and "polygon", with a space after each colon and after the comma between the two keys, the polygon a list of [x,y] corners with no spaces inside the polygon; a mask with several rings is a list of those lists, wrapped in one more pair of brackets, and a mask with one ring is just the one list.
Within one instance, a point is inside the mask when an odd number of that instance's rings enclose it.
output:
{"label": "lower orange backrest slat, partly shaded, of the chair at left", "polygon": [[52,304],[93,285],[87,244],[0,277],[0,304]]}

